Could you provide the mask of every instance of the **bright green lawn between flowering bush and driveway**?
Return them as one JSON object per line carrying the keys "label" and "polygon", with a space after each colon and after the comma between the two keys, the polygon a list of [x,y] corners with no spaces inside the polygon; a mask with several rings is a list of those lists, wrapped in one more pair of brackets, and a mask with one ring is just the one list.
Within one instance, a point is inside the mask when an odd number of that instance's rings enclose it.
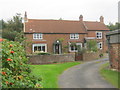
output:
{"label": "bright green lawn between flowering bush and driveway", "polygon": [[67,62],[61,64],[30,65],[32,74],[42,78],[43,88],[58,88],[59,75],[69,67],[80,64],[80,62]]}

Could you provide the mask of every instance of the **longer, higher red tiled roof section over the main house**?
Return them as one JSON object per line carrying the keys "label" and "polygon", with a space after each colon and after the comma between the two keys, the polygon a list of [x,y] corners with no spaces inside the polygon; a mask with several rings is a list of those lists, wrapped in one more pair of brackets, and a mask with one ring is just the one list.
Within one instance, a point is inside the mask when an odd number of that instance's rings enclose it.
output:
{"label": "longer, higher red tiled roof section over the main house", "polygon": [[28,19],[25,32],[86,33],[81,21]]}

